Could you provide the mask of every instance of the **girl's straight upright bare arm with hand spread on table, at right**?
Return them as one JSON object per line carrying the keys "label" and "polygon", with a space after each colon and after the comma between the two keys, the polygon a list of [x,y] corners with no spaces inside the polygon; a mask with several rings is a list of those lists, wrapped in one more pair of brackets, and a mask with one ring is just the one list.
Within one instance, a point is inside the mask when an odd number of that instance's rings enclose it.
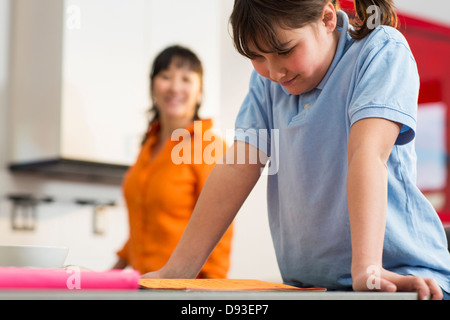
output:
{"label": "girl's straight upright bare arm with hand spread on table, at right", "polygon": [[[436,281],[401,276],[382,268],[387,211],[387,161],[401,125],[370,118],[352,126],[348,145],[347,201],[352,238],[353,288],[415,291],[442,299]],[[378,277],[379,276],[379,277]]]}

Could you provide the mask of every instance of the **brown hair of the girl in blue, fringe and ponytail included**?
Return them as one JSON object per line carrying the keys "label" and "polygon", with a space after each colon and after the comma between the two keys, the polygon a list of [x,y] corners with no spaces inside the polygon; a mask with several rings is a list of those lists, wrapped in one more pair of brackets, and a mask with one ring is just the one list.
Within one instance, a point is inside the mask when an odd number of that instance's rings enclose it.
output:
{"label": "brown hair of the girl in blue, fringe and ponytail included", "polygon": [[[251,45],[266,53],[286,50],[278,40],[276,28],[297,29],[317,22],[329,2],[340,9],[338,0],[235,0],[230,23],[236,50],[250,59],[256,55],[250,50]],[[355,0],[360,21],[351,31],[354,39],[362,39],[373,30],[367,23],[373,14],[367,9],[372,5],[379,9],[375,13],[380,15],[381,25],[397,26],[393,0]]]}

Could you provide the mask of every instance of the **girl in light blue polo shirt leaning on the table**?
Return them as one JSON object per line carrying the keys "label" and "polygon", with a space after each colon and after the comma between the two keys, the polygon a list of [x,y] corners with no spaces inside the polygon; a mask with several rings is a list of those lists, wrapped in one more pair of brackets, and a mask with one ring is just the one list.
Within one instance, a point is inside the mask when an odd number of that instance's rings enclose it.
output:
{"label": "girl in light blue polo shirt leaning on the table", "polygon": [[337,1],[235,1],[235,46],[255,69],[235,144],[168,264],[145,278],[195,277],[269,163],[285,283],[421,299],[450,291],[445,233],[415,185],[414,57],[391,0],[355,8],[351,27]]}

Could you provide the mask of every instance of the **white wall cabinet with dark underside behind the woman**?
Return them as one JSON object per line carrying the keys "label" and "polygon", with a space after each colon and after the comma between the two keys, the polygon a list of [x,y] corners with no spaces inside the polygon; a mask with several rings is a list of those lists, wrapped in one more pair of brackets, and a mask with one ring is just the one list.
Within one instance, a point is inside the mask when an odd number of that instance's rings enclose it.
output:
{"label": "white wall cabinet with dark underside behind the woman", "polygon": [[147,127],[152,59],[169,44],[202,53],[207,116],[219,107],[216,1],[11,6],[12,170],[120,181]]}

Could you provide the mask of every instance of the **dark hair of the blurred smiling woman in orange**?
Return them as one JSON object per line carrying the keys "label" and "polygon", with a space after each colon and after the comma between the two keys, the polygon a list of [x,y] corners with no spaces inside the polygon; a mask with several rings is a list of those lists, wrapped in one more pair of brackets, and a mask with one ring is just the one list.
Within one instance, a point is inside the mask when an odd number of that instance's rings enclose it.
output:
{"label": "dark hair of the blurred smiling woman in orange", "polygon": [[[189,70],[197,73],[200,76],[201,87],[203,87],[203,65],[197,55],[188,48],[174,45],[164,49],[158,54],[153,61],[152,70],[150,72],[150,88],[153,90],[153,80],[162,71],[169,69],[170,65],[175,63],[178,68],[186,67]],[[201,103],[197,102],[195,107],[194,120],[200,120],[198,111],[200,110]],[[149,126],[159,120],[158,110],[155,105],[150,107],[150,120]]]}

